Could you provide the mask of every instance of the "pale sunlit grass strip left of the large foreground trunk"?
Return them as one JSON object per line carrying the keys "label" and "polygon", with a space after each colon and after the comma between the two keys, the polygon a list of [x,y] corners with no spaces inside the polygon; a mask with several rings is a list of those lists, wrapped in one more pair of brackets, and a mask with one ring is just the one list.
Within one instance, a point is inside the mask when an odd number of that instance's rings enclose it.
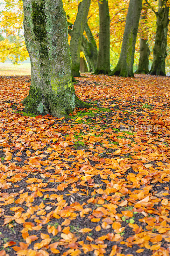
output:
{"label": "pale sunlit grass strip left of the large foreground trunk", "polygon": [[0,76],[30,76],[31,75],[31,64],[1,64],[0,65]]}

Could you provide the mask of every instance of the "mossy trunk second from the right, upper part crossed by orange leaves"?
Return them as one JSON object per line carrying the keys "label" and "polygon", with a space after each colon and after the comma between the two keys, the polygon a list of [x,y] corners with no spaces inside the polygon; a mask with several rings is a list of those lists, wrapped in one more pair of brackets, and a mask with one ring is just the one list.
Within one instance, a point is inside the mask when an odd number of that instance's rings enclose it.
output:
{"label": "mossy trunk second from the right, upper part crossed by orange leaves", "polygon": [[[140,16],[140,20],[145,23],[147,19],[147,8],[144,9]],[[140,58],[138,69],[135,74],[148,74],[149,73],[149,44],[147,38],[147,32],[143,31],[144,35],[140,36]]]}

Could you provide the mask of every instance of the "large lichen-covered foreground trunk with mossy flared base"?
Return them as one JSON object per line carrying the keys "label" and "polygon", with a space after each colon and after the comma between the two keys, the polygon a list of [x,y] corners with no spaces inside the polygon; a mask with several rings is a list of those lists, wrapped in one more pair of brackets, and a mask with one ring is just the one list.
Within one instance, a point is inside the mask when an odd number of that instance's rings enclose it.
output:
{"label": "large lichen-covered foreground trunk with mossy flared base", "polygon": [[90,107],[75,95],[62,0],[23,0],[23,6],[32,72],[30,92],[22,102],[24,111],[61,117],[75,107]]}

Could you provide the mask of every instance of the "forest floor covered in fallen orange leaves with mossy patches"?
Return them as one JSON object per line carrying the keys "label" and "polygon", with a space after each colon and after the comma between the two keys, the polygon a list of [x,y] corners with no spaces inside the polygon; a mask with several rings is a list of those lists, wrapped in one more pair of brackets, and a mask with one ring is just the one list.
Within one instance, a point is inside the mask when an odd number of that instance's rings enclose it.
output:
{"label": "forest floor covered in fallen orange leaves with mossy patches", "polygon": [[60,119],[30,79],[0,77],[0,256],[168,256],[170,77],[83,74]]}

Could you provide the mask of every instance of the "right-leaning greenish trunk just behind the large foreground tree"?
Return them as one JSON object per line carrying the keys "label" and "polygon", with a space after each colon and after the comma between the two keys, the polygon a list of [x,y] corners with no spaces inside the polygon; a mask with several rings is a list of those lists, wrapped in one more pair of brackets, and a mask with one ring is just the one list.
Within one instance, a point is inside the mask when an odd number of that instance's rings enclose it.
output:
{"label": "right-leaning greenish trunk just behind the large foreground tree", "polygon": [[72,75],[80,76],[80,51],[81,42],[84,32],[84,27],[87,22],[87,15],[89,12],[90,0],[83,0],[79,4],[77,17],[74,22],[74,27],[72,31],[72,37],[70,41],[70,51],[72,58]]}

